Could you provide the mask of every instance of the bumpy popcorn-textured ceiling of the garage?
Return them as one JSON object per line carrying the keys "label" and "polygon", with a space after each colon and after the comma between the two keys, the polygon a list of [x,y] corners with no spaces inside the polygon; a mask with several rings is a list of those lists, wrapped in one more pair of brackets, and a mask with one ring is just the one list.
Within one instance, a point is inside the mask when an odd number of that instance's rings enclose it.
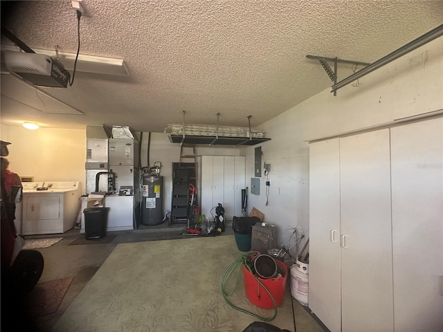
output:
{"label": "bumpy popcorn-textured ceiling of the garage", "polygon": [[[2,124],[163,132],[168,123],[181,123],[185,110],[187,123],[215,124],[220,113],[220,125],[247,127],[251,115],[257,127],[332,85],[306,55],[374,62],[443,21],[443,1],[83,3],[91,17],[80,19],[80,54],[124,59],[129,77],[77,72],[67,89],[40,88],[83,113],[66,115],[6,97],[9,83],[1,75]],[[2,26],[30,48],[76,52],[71,1],[1,5]],[[1,44],[11,42],[2,36]],[[339,64],[338,80],[350,74],[352,66]]]}

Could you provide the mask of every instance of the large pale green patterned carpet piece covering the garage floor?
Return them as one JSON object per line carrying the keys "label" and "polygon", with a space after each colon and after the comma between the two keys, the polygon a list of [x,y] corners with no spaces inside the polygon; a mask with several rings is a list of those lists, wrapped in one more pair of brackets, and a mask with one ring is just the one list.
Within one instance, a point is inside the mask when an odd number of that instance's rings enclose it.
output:
{"label": "large pale green patterned carpet piece covering the garage floor", "polygon": [[[220,289],[221,275],[242,254],[232,235],[118,244],[52,331],[243,331],[257,319],[230,308]],[[248,300],[242,274],[229,298],[273,315]],[[271,324],[294,331],[289,286]]]}

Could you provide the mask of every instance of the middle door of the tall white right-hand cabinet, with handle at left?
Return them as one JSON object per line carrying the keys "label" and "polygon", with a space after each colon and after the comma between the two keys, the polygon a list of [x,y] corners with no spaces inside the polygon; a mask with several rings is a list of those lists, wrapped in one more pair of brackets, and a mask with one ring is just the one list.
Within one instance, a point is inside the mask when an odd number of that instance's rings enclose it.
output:
{"label": "middle door of the tall white right-hand cabinet, with handle at left", "polygon": [[341,138],[340,164],[342,331],[393,331],[389,129]]}

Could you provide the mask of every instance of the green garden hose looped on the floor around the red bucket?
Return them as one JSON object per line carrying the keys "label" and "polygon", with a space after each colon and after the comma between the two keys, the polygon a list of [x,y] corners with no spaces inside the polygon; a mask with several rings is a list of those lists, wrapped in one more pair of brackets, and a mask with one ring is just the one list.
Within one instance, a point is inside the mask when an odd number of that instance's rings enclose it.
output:
{"label": "green garden hose looped on the floor around the red bucket", "polygon": [[[255,253],[251,253],[249,252],[246,255],[242,255],[241,259],[237,259],[236,261],[234,261],[233,263],[230,264],[230,266],[228,266],[228,268],[226,268],[226,270],[224,271],[223,275],[221,276],[221,294],[223,294],[223,297],[226,301],[226,303],[228,304],[228,306],[230,306],[231,308],[240,311],[242,313],[246,313],[248,315],[251,315],[259,320],[263,320],[264,322],[271,322],[273,320],[275,320],[275,317],[277,317],[277,304],[275,303],[275,299],[273,298],[273,296],[271,295],[271,292],[269,292],[269,290],[264,286],[264,284],[262,282],[260,282],[260,279],[255,277],[255,279],[257,280],[258,284],[260,284],[260,286],[262,286],[264,288],[264,290],[266,291],[266,293],[269,294],[269,297],[271,297],[272,299],[272,303],[274,305],[274,314],[272,317],[262,317],[260,315],[257,315],[255,313],[251,313],[251,311],[247,311],[244,308],[239,308],[238,306],[235,306],[234,304],[232,304],[229,300],[228,300],[228,296],[233,295],[233,293],[235,292],[235,290],[237,289],[237,285],[238,285],[238,281],[239,281],[239,274],[240,274],[240,268],[242,267],[242,265],[244,265],[249,272],[252,273],[251,267],[248,266],[247,261],[248,261],[248,257],[251,256],[257,256],[259,254],[255,254]],[[233,274],[236,273],[235,275],[235,286],[233,288],[233,290],[231,291],[227,291],[226,290],[226,285],[228,284],[228,281],[231,277],[233,277]]]}

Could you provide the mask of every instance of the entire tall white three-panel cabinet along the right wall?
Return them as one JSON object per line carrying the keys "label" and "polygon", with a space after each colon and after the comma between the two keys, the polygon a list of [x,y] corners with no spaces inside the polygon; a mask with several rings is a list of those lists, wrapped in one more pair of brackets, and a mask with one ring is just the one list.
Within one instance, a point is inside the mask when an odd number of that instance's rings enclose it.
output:
{"label": "entire tall white three-panel cabinet along the right wall", "polygon": [[309,147],[309,308],[330,331],[443,326],[442,118]]}

